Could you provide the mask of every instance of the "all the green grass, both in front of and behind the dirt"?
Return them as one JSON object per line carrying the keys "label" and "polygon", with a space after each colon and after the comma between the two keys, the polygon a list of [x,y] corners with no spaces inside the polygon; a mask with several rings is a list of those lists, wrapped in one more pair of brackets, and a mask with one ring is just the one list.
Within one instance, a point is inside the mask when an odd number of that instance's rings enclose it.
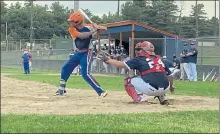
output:
{"label": "all the green grass, both in front of and behind the dirt", "polygon": [[[21,80],[38,81],[58,86],[59,75],[48,75],[46,71],[23,74],[19,69],[1,68],[2,73],[13,74]],[[57,73],[57,72],[49,72]],[[96,76],[106,90],[123,89],[123,77]],[[177,82],[175,94],[218,97],[218,83]],[[68,88],[89,89],[81,76],[71,76]],[[97,114],[97,115],[1,115],[3,133],[217,133],[218,111],[186,111],[141,114]]]}

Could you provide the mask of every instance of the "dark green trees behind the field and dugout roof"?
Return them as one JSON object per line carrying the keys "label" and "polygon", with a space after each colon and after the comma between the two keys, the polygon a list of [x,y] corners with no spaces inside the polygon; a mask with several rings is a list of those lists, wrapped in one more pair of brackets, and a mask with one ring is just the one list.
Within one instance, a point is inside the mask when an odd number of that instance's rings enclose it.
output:
{"label": "dark green trees behind the field and dugout roof", "polygon": [[[30,11],[33,10],[34,39],[51,39],[53,37],[68,38],[68,19],[73,11],[59,2],[41,6],[26,1],[24,5],[19,2],[7,5],[1,1],[1,35],[5,35],[5,23],[8,23],[8,36],[12,39],[29,39],[30,37]],[[98,16],[90,10],[84,9],[91,20],[97,24],[105,24],[123,20],[134,20],[149,26],[166,30],[184,37],[193,38],[196,33],[196,14],[198,15],[199,36],[211,36],[218,31],[218,19],[205,17],[203,4],[192,6],[190,16],[179,16],[180,9],[174,0],[134,0],[127,1],[120,7],[121,12],[103,14]],[[197,9],[197,10],[196,10]],[[85,20],[86,21],[86,20]],[[180,25],[181,24],[181,25]],[[2,36],[5,38],[5,36]]]}

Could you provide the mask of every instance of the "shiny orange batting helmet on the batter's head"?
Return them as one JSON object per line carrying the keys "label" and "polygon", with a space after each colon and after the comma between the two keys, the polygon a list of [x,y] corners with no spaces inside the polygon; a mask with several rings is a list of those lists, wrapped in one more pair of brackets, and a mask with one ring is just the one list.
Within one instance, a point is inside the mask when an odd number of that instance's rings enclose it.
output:
{"label": "shiny orange batting helmet on the batter's head", "polygon": [[77,26],[84,21],[84,17],[80,12],[74,12],[69,16],[68,21],[73,22],[74,26]]}

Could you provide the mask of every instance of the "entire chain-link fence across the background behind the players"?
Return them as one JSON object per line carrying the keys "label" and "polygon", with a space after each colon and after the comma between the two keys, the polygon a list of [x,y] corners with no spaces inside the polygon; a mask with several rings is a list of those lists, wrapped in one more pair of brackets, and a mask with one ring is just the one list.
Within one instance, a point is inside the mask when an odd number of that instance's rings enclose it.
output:
{"label": "entire chain-link fence across the background behind the players", "polygon": [[[167,56],[172,61],[173,54],[179,57],[185,41],[175,38],[135,38],[134,44],[148,40],[155,45],[155,52],[161,56]],[[219,52],[220,46],[218,38],[199,38],[197,42],[198,58],[197,73],[200,80],[211,81],[213,77],[219,77]],[[2,67],[23,68],[22,55],[23,48],[30,46],[29,40],[8,40],[1,42],[1,65]],[[131,38],[129,43],[129,56],[118,56],[117,60],[127,60],[131,57]],[[7,45],[8,44],[8,45]],[[69,58],[73,42],[70,39],[57,40],[34,40],[31,54],[33,56],[32,68],[40,70],[60,71],[62,65]],[[133,51],[134,54],[134,51]],[[105,64],[94,57],[92,72],[108,74],[127,74],[128,70],[113,67]],[[208,77],[207,77],[208,76]]]}

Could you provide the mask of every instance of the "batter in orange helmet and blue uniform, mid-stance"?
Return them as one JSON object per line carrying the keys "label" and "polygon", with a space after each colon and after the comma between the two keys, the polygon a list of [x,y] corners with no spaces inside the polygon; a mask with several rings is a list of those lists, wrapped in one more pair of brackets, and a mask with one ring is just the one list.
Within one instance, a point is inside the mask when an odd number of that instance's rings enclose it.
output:
{"label": "batter in orange helmet and blue uniform, mid-stance", "polygon": [[99,96],[105,97],[105,92],[96,80],[90,74],[91,61],[92,61],[92,37],[98,30],[107,30],[106,27],[93,24],[84,24],[84,17],[79,12],[74,12],[69,16],[68,22],[69,33],[75,42],[76,52],[71,58],[63,65],[61,69],[60,86],[56,95],[64,95],[66,93],[66,82],[72,73],[73,69],[79,64],[81,66],[81,75],[83,79],[97,92]]}

